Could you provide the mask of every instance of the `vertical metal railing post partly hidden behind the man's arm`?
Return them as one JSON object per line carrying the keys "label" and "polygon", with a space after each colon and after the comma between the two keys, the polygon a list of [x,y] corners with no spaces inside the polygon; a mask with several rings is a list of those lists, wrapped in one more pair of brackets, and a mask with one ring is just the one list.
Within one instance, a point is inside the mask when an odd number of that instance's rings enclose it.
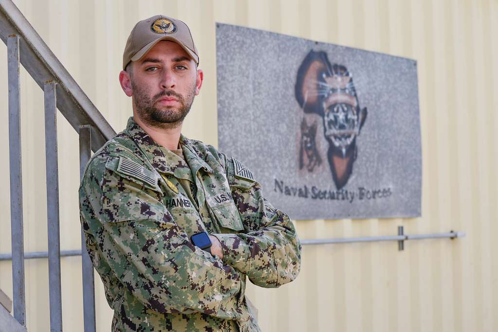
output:
{"label": "vertical metal railing post partly hidden behind the man's arm", "polygon": [[[92,126],[80,126],[80,179],[90,160],[92,149]],[[94,268],[85,245],[85,234],[81,230],[81,270],[83,278],[83,322],[85,332],[95,332],[95,280]]]}

